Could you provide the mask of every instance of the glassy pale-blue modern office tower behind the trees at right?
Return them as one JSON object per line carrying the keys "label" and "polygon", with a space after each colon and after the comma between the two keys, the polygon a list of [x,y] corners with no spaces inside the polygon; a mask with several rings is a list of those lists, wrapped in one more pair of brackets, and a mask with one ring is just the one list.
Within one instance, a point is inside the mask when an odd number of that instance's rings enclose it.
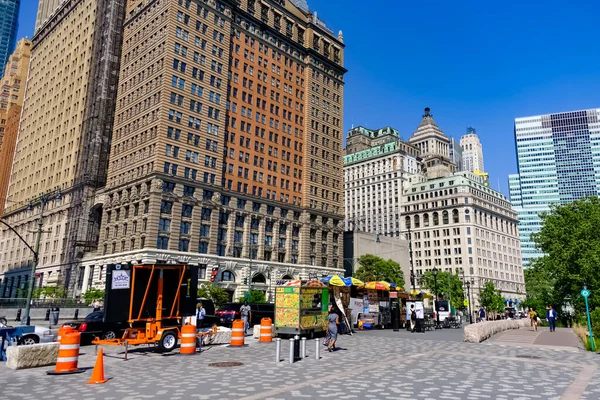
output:
{"label": "glassy pale-blue modern office tower behind the trees at right", "polygon": [[540,253],[531,240],[551,204],[600,195],[600,108],[515,119],[518,173],[509,176],[519,216],[523,265]]}

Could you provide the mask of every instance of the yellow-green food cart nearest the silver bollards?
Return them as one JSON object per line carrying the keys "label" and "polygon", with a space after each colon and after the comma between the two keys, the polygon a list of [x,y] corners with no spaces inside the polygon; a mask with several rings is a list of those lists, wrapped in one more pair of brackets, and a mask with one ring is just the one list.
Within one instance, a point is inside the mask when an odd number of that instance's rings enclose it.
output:
{"label": "yellow-green food cart nearest the silver bollards", "polygon": [[329,288],[317,281],[282,281],[275,287],[278,336],[309,336],[327,331]]}

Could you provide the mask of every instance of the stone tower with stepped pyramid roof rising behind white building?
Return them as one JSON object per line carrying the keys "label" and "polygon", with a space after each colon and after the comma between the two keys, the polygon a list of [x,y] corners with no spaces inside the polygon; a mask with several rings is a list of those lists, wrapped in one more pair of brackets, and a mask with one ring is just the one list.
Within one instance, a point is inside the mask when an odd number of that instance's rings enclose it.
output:
{"label": "stone tower with stepped pyramid roof rising behind white building", "polygon": [[456,171],[456,165],[450,158],[450,138],[435,123],[430,111],[425,108],[423,119],[408,142],[419,149],[426,176],[433,179]]}

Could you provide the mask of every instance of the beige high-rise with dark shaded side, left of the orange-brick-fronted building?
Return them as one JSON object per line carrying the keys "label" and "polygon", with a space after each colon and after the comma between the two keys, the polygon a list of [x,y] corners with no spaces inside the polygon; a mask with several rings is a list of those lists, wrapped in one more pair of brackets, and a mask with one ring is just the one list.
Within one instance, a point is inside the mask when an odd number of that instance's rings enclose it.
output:
{"label": "beige high-rise with dark shaded side, left of the orange-brick-fronted building", "polygon": [[[37,285],[78,283],[96,248],[95,194],[106,183],[124,0],[41,1],[3,219],[32,247],[43,221]],[[0,297],[30,279],[32,252],[0,231]]]}

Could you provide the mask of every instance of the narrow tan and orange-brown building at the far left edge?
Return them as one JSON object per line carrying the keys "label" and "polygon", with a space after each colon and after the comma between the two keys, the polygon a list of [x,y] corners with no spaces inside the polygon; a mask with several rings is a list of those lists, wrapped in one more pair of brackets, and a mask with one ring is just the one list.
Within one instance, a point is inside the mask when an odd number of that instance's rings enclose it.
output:
{"label": "narrow tan and orange-brown building at the far left edge", "polygon": [[6,63],[0,86],[0,216],[8,191],[30,57],[31,40],[21,39]]}

